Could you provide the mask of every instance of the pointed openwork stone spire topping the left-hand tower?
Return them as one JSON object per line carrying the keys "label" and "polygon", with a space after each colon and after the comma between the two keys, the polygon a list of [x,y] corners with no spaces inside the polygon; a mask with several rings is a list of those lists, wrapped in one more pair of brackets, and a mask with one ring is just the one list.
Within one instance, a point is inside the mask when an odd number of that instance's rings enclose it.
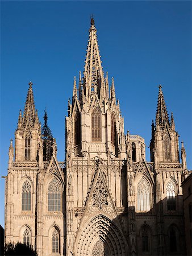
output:
{"label": "pointed openwork stone spire topping the left-hand tower", "polygon": [[26,125],[27,122],[30,125],[34,125],[35,122],[35,103],[34,103],[34,94],[32,91],[32,82],[28,83],[28,93],[27,93],[27,100],[26,105],[24,106],[24,114],[23,114],[23,124]]}

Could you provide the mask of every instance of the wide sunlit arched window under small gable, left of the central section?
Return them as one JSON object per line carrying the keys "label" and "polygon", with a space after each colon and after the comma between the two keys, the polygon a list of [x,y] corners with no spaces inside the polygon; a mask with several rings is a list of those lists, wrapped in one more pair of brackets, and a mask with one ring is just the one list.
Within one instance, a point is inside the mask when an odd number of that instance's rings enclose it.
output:
{"label": "wide sunlit arched window under small gable, left of the central section", "polygon": [[54,177],[48,187],[48,211],[60,212],[61,188],[59,181]]}

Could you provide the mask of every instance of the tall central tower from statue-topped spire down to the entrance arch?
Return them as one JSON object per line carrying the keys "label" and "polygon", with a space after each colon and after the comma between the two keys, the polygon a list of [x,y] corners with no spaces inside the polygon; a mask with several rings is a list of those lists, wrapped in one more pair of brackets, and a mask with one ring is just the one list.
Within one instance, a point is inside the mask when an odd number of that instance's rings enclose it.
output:
{"label": "tall central tower from statue-topped spire down to the entrance arch", "polygon": [[91,18],[84,73],[78,89],[74,77],[66,117],[66,255],[94,255],[99,245],[107,255],[128,251],[127,217],[120,217],[127,197],[124,120],[114,79],[108,87]]}

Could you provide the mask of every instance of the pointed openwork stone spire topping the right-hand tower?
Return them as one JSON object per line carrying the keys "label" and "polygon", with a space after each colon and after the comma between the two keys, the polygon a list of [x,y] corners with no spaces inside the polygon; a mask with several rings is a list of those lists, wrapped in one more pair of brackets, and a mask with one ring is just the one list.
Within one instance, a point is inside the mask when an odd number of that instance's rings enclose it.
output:
{"label": "pointed openwork stone spire topping the right-hand tower", "polygon": [[158,102],[157,102],[157,112],[156,112],[156,127],[164,127],[165,122],[170,126],[168,112],[166,110],[164,95],[162,93],[162,86],[158,86]]}

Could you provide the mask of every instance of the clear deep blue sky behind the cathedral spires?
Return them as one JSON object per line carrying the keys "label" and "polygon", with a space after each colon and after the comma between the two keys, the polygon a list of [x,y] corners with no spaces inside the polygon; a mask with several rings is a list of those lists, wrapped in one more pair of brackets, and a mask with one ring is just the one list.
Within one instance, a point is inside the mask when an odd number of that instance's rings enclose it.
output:
{"label": "clear deep blue sky behind the cathedral spires", "polygon": [[[191,154],[191,1],[1,1],[1,176],[7,174],[10,139],[24,108],[28,82],[35,106],[65,158],[65,115],[73,77],[84,70],[94,14],[104,71],[114,77],[125,131],[145,139],[149,161],[158,84]],[[4,183],[0,224],[4,226]]]}

